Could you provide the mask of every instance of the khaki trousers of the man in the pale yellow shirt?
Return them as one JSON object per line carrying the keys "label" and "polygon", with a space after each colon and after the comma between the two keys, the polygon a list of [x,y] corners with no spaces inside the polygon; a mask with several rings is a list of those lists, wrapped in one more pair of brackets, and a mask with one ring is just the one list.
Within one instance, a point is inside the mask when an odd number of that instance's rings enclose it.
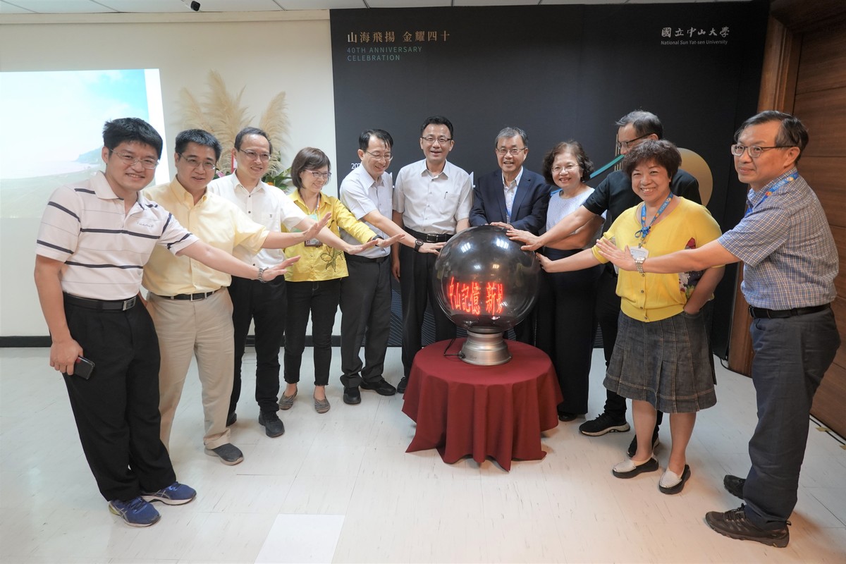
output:
{"label": "khaki trousers of the man in the pale yellow shirt", "polygon": [[206,435],[212,449],[230,442],[226,418],[232,394],[234,338],[232,300],[225,290],[199,301],[161,298],[150,293],[149,309],[156,325],[162,367],[159,370],[159,412],[162,442],[168,446],[173,417],[182,397],[191,357],[197,359],[202,385]]}

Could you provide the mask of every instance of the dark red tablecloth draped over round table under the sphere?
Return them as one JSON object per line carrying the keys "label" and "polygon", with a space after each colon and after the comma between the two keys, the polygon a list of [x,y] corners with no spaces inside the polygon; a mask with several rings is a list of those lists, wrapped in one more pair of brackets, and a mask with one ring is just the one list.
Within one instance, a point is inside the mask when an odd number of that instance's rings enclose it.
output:
{"label": "dark red tablecloth draped over round table under the sphere", "polygon": [[[482,463],[493,457],[505,470],[514,460],[540,460],[541,431],[558,425],[562,402],[555,371],[546,353],[508,341],[511,361],[475,366],[443,355],[448,341],[420,350],[411,367],[403,413],[417,423],[406,452],[437,448],[443,462],[472,455]],[[456,339],[448,353],[458,353]]]}

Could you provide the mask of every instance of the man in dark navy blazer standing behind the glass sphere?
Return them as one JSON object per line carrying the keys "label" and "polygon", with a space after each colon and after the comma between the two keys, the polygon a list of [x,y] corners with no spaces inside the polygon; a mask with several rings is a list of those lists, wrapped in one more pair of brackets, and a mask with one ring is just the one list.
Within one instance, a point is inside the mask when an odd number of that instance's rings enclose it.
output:
{"label": "man in dark navy blazer standing behind the glass sphere", "polygon": [[[547,225],[547,207],[552,187],[537,172],[523,167],[529,154],[525,131],[507,127],[497,134],[494,145],[499,170],[479,177],[473,189],[470,226],[495,225],[540,233]],[[519,341],[534,344],[534,316],[514,327]]]}

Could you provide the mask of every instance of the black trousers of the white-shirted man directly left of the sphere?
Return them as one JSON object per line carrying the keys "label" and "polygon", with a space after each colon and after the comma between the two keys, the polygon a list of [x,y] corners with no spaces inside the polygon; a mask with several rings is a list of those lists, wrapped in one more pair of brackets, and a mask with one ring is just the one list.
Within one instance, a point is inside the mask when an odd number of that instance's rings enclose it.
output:
{"label": "black trousers of the white-shirted man directly left of the sphere", "polygon": [[403,370],[408,376],[417,351],[422,348],[423,314],[431,304],[435,317],[435,340],[455,337],[455,324],[443,313],[435,297],[437,255],[415,253],[405,245],[399,248],[399,293],[403,298]]}

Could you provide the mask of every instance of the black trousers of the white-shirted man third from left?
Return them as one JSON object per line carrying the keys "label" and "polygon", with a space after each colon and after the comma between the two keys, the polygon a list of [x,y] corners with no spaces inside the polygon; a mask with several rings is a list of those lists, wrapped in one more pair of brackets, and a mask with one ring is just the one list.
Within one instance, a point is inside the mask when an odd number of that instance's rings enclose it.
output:
{"label": "black trousers of the white-shirted man third from left", "polygon": [[279,348],[285,332],[285,281],[278,277],[262,284],[257,280],[232,277],[232,325],[235,364],[229,415],[235,413],[241,397],[241,359],[244,357],[250,321],[255,321],[255,402],[264,412],[279,409]]}

